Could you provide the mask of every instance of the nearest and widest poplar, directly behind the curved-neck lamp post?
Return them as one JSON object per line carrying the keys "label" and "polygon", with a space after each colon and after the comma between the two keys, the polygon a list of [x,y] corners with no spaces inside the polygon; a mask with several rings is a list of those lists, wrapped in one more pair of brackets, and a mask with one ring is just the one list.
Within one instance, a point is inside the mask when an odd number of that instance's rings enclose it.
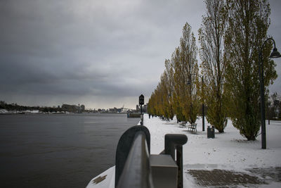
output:
{"label": "nearest and widest poplar, directly behind the curved-neck lamp post", "polygon": [[[268,38],[270,7],[266,0],[227,0],[227,5],[226,88],[230,117],[240,134],[255,140],[261,125],[259,47]],[[265,87],[277,77],[275,63],[268,59],[270,49],[270,43],[263,49]]]}

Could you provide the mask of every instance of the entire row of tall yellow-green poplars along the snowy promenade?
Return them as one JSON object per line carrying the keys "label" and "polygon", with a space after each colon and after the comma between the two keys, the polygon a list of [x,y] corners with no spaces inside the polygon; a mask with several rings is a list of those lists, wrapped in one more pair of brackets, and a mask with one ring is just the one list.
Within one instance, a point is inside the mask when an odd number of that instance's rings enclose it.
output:
{"label": "entire row of tall yellow-green poplars along the snowy promenade", "polygon": [[[195,123],[200,104],[207,120],[219,132],[227,117],[248,140],[255,140],[261,125],[259,108],[259,46],[268,38],[270,6],[266,0],[206,0],[199,33],[200,49],[185,23],[180,44],[152,93],[148,112]],[[277,78],[270,60],[273,44],[263,49],[264,85]],[[199,51],[202,63],[197,63]],[[201,73],[200,73],[201,69]],[[204,79],[204,82],[203,82]],[[266,89],[268,94],[268,89]]]}

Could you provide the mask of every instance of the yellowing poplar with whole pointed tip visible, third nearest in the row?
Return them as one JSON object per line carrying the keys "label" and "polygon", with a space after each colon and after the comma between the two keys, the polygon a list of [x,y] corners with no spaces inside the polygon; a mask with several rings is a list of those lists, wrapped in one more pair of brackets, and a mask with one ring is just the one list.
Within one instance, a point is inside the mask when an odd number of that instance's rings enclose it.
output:
{"label": "yellowing poplar with whole pointed tip visible, third nearest in the row", "polygon": [[[197,46],[191,27],[185,23],[180,46],[173,54],[174,61],[174,105],[177,118],[195,123],[200,110]],[[181,117],[178,117],[181,116]]]}

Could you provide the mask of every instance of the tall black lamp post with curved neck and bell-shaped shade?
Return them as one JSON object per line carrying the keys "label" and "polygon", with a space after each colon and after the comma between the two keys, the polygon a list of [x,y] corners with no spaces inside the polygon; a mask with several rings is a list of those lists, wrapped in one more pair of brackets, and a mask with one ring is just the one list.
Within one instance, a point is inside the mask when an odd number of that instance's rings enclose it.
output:
{"label": "tall black lamp post with curved neck and bell-shaped shade", "polygon": [[266,149],[266,115],[265,115],[265,105],[264,105],[264,84],[263,84],[263,46],[268,42],[268,40],[272,40],[274,44],[273,51],[270,54],[270,58],[280,58],[281,55],[277,51],[275,47],[275,41],[273,38],[268,38],[263,42],[261,49],[259,49],[259,79],[261,86],[261,149]]}

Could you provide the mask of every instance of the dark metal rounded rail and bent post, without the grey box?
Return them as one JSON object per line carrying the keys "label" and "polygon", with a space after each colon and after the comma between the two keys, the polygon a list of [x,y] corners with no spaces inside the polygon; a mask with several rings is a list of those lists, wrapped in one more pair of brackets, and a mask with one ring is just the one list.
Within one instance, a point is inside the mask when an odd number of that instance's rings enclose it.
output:
{"label": "dark metal rounded rail and bent post, without the grey box", "polygon": [[[183,149],[188,141],[185,134],[166,134],[163,154],[171,155],[178,165],[177,187],[183,187]],[[133,126],[119,139],[115,163],[115,187],[152,188],[150,166],[150,132],[145,126]]]}

